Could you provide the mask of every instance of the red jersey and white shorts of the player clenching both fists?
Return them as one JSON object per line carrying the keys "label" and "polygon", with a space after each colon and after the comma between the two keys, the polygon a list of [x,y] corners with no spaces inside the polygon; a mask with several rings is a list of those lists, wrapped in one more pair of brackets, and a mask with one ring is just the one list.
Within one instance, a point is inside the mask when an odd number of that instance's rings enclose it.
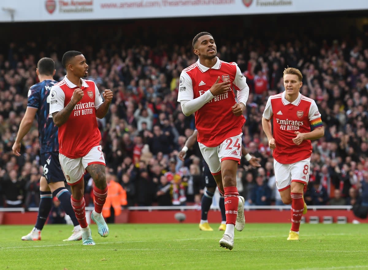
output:
{"label": "red jersey and white shorts of the player clenching both fists", "polygon": [[[59,159],[69,184],[80,180],[88,165],[105,165],[96,120],[96,109],[102,104],[102,98],[93,81],[81,79],[81,82],[84,96],[75,105],[66,123],[59,127]],[[50,115],[64,109],[76,88],[78,86],[66,76],[51,88]]]}

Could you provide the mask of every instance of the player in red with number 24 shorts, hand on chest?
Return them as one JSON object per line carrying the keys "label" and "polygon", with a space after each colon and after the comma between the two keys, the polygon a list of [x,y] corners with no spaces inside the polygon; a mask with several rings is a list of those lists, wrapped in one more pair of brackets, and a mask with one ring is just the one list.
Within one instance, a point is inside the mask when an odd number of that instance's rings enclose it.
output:
{"label": "player in red with number 24 shorts, hand on chest", "polygon": [[198,61],[181,72],[178,102],[186,116],[195,113],[199,148],[225,198],[226,229],[219,243],[231,250],[234,227],[241,231],[245,225],[244,198],[236,187],[236,173],[249,87],[236,63],[216,57],[216,44],[210,33],[198,33],[192,45]]}

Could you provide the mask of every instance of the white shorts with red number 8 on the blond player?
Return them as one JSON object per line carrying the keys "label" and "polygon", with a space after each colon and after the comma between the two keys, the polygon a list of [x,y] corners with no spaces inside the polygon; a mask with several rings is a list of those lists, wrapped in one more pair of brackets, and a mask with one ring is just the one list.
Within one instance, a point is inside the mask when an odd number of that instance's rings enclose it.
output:
{"label": "white shorts with red number 8 on the blond player", "polygon": [[273,168],[275,169],[276,186],[279,191],[283,191],[290,187],[291,182],[300,182],[305,185],[309,181],[309,167],[311,166],[311,158],[298,161],[291,164],[282,164],[273,160]]}

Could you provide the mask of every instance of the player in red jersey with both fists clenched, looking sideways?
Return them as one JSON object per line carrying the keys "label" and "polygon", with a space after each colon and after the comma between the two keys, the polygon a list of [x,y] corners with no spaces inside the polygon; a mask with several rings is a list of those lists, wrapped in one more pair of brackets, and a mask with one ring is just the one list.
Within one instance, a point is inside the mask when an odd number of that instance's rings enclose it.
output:
{"label": "player in red jersey with both fists clenched, looking sideways", "polygon": [[71,204],[81,225],[82,242],[95,245],[86,221],[83,175],[85,170],[88,171],[95,182],[95,209],[91,218],[97,223],[100,236],[107,237],[109,228],[101,214],[107,196],[105,158],[99,145],[101,133],[96,117],[105,117],[113,93],[105,90],[103,102],[96,84],[82,79],[87,77],[88,65],[81,52],[67,51],[62,63],[67,74],[51,89],[50,114],[59,127],[59,159],[71,186]]}

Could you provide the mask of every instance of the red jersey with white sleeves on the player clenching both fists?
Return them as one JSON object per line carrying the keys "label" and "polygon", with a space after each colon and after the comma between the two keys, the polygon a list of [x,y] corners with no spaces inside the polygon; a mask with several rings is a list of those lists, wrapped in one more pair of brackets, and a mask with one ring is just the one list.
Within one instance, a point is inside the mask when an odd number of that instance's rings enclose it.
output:
{"label": "red jersey with white sleeves on the player clenching both fists", "polygon": [[[75,105],[66,123],[59,127],[59,153],[68,158],[84,157],[100,145],[101,133],[96,120],[96,109],[102,98],[93,81],[82,80],[83,98]],[[65,76],[50,92],[50,115],[60,112],[70,102],[77,85]]]}

